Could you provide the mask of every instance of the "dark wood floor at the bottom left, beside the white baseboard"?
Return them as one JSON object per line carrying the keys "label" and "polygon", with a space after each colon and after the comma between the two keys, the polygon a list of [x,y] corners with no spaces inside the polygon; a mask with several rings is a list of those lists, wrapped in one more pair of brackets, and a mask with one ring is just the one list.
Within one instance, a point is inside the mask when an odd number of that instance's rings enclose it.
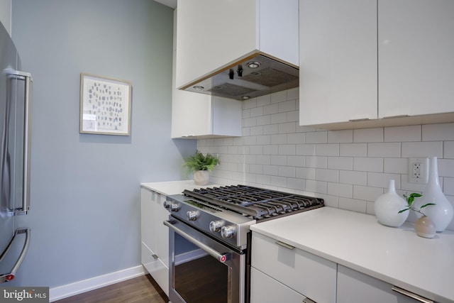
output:
{"label": "dark wood floor at the bottom left, beside the white baseboard", "polygon": [[57,303],[167,303],[169,298],[150,275],[55,301]]}

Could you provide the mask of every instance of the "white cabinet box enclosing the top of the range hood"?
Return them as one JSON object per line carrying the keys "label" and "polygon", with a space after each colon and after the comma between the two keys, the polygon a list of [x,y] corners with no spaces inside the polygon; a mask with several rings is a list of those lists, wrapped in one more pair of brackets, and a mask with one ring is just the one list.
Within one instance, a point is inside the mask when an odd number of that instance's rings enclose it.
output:
{"label": "white cabinet box enclosing the top of the range hood", "polygon": [[176,87],[262,53],[299,64],[298,0],[179,1]]}

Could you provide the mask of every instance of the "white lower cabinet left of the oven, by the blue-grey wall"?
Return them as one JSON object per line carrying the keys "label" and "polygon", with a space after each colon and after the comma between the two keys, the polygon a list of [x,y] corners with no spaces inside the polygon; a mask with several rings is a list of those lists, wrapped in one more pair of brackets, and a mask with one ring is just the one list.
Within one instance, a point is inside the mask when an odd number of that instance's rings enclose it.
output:
{"label": "white lower cabinet left of the oven, by the blue-grey wall", "polygon": [[164,208],[165,196],[140,189],[140,260],[162,290],[169,295],[169,231],[162,224],[169,213]]}

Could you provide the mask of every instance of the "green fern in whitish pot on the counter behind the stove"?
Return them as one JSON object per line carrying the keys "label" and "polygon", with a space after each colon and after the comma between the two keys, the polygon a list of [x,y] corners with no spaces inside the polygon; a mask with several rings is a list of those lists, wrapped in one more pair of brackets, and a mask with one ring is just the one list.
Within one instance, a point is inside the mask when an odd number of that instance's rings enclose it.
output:
{"label": "green fern in whitish pot on the counter behind the stove", "polygon": [[204,155],[199,150],[196,150],[194,155],[184,158],[183,165],[186,167],[188,174],[193,174],[196,185],[206,185],[209,182],[209,172],[220,163],[221,161],[217,156],[209,153]]}

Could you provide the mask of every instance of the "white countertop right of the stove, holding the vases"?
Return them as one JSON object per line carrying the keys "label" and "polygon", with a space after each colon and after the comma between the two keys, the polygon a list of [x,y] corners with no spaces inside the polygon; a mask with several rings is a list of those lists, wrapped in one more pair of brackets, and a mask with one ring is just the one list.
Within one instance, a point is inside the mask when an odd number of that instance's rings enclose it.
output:
{"label": "white countertop right of the stove, holding the vases", "polygon": [[454,302],[454,231],[421,238],[413,224],[387,227],[375,216],[328,206],[250,229],[423,297]]}

